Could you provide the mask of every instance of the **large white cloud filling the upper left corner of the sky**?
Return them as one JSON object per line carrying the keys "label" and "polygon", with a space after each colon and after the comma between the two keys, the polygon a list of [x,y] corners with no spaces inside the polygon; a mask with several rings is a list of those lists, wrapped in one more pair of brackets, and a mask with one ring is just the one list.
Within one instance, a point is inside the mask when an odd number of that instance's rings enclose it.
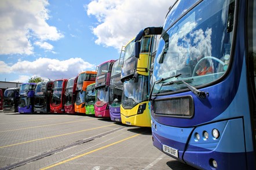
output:
{"label": "large white cloud filling the upper left corner of the sky", "polygon": [[63,37],[56,27],[47,24],[47,0],[0,1],[0,55],[33,54],[32,41],[52,40]]}

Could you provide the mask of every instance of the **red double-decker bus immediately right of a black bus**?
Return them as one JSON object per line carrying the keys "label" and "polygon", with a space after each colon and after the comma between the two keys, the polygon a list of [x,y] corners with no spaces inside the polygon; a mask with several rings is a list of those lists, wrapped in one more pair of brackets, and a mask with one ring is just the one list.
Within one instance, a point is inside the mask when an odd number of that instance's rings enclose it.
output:
{"label": "red double-decker bus immediately right of a black bus", "polygon": [[62,114],[65,112],[65,85],[67,79],[59,79],[53,81],[52,96],[50,101],[50,112]]}

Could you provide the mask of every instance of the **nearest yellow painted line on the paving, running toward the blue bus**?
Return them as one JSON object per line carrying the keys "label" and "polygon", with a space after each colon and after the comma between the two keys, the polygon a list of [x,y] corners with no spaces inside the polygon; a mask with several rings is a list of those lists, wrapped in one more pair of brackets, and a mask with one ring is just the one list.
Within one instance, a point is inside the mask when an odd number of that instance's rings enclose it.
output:
{"label": "nearest yellow painted line on the paving, running toward the blue bus", "polygon": [[70,159],[67,159],[67,160],[61,161],[60,163],[56,163],[56,164],[50,165],[49,167],[42,168],[41,170],[45,170],[45,169],[49,169],[49,168],[56,167],[57,165],[67,163],[67,162],[69,162],[69,161],[75,160],[76,158],[86,156],[87,154],[90,154],[90,153],[96,152],[96,151],[101,150],[101,149],[104,149],[104,148],[108,148],[109,146],[115,145],[116,143],[120,143],[120,142],[126,141],[127,139],[130,139],[130,138],[137,137],[138,135],[140,135],[140,134],[136,134],[136,135],[133,135],[133,136],[131,136],[131,137],[128,137],[128,138],[122,139],[122,140],[120,140],[120,141],[117,141],[117,142],[111,143],[111,144],[106,145],[106,146],[103,146],[103,147],[101,147],[101,148],[94,149],[94,150],[92,150],[92,151],[90,151],[90,152],[86,152],[86,153],[80,154],[80,155],[75,156],[75,157],[72,157],[72,158],[70,158]]}

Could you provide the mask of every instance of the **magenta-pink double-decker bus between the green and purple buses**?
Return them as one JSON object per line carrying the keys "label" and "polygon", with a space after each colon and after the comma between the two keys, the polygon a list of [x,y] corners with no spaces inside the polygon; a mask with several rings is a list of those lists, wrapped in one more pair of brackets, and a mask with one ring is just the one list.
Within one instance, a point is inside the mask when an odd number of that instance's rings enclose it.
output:
{"label": "magenta-pink double-decker bus between the green and purple buses", "polygon": [[109,118],[109,81],[111,67],[115,60],[109,60],[97,67],[95,89],[97,90],[96,103],[94,105],[96,117]]}

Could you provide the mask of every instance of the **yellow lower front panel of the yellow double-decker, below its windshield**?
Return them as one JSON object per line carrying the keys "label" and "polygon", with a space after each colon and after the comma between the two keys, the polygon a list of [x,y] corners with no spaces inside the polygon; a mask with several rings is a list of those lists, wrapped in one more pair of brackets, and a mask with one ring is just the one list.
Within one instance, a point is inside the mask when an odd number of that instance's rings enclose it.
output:
{"label": "yellow lower front panel of the yellow double-decker, below its windshield", "polygon": [[[144,103],[146,104],[144,112],[142,114],[137,114],[139,105]],[[148,103],[149,101],[142,102],[132,109],[125,109],[121,104],[120,111],[122,123],[133,126],[151,127],[151,116],[149,113]]]}

